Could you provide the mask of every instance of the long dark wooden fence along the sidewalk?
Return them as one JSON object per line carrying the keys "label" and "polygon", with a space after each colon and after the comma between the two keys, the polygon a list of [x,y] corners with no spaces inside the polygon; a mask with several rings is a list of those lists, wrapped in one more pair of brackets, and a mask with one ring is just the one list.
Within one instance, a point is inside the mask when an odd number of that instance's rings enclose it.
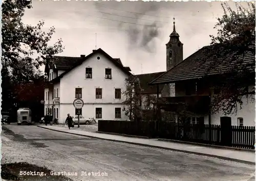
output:
{"label": "long dark wooden fence along the sidewalk", "polygon": [[155,121],[103,121],[98,131],[254,149],[255,126],[191,125]]}

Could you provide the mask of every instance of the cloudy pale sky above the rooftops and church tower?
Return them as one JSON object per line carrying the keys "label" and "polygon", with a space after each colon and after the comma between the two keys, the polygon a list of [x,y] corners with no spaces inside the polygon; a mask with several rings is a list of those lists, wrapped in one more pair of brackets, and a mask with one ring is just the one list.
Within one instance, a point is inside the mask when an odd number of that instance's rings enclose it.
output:
{"label": "cloudy pale sky above the rooftops and church tower", "polygon": [[[229,2],[234,7],[233,2]],[[247,3],[242,3],[246,7]],[[173,32],[183,43],[183,58],[209,45],[216,35],[217,18],[223,15],[221,2],[117,2],[38,1],[25,11],[23,21],[42,30],[54,26],[51,43],[61,38],[65,50],[59,56],[89,55],[101,48],[120,58],[134,74],[166,71],[166,46]],[[41,67],[44,70],[44,66]]]}

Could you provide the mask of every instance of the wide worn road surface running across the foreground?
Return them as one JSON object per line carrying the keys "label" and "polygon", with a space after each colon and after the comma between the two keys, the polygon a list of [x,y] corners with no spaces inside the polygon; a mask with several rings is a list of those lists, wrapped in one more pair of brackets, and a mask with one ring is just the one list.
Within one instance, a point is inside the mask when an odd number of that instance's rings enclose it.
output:
{"label": "wide worn road surface running across the foreground", "polygon": [[[13,132],[2,132],[3,163],[23,161],[54,171],[77,172],[77,176],[69,177],[79,181],[249,180],[255,171],[250,165],[206,156],[79,137],[36,126],[4,126]],[[105,176],[86,176],[81,171],[103,172]]]}

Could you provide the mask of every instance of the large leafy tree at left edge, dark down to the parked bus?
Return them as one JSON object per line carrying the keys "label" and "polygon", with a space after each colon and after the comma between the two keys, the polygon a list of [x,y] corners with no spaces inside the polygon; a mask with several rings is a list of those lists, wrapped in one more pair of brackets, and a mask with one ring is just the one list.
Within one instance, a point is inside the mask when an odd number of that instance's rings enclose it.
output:
{"label": "large leafy tree at left edge, dark down to the parked bus", "polygon": [[27,0],[5,0],[2,4],[3,109],[12,109],[11,105],[18,101],[17,96],[24,92],[25,86],[21,85],[33,83],[41,74],[39,66],[50,62],[54,54],[64,49],[61,39],[50,45],[55,32],[53,27],[45,33],[41,31],[43,21],[36,26],[23,24],[25,9],[30,8],[32,2]]}

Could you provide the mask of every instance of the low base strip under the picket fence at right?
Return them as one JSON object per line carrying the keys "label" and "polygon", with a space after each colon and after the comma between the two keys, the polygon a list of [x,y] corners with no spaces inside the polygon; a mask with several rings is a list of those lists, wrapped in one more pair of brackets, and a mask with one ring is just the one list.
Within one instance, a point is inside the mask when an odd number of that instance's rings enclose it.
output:
{"label": "low base strip under the picket fence at right", "polygon": [[190,145],[199,145],[199,146],[205,146],[205,147],[212,147],[212,148],[220,148],[220,149],[227,149],[227,150],[237,150],[237,151],[245,151],[245,152],[254,152],[254,149],[245,149],[245,148],[235,148],[235,147],[228,147],[228,146],[219,146],[219,145],[208,145],[203,143],[193,143],[193,142],[185,142],[185,141],[179,141],[179,140],[170,140],[170,139],[157,139],[158,141],[164,141],[164,142],[176,142],[176,143],[185,143]]}

